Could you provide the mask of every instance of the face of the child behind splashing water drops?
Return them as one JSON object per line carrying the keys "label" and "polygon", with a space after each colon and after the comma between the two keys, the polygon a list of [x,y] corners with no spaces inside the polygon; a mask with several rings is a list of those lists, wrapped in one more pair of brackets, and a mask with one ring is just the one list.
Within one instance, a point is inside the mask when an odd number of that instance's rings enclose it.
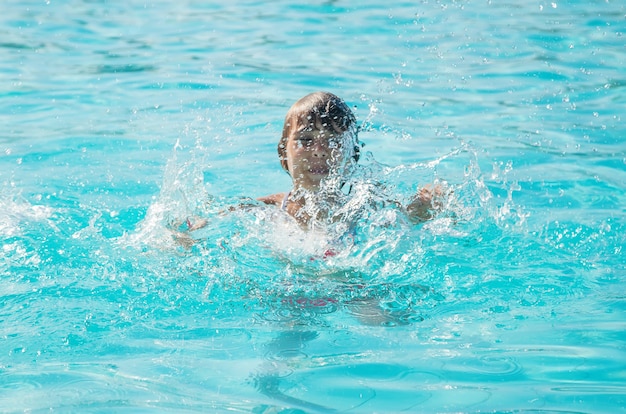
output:
{"label": "face of the child behind splashing water drops", "polygon": [[344,161],[343,133],[332,127],[297,128],[287,140],[287,165],[294,187],[316,191]]}

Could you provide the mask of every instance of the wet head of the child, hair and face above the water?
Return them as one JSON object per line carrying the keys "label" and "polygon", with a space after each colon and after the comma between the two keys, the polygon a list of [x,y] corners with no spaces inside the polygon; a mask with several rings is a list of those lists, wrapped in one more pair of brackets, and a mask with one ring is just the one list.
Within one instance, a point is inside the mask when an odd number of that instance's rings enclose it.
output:
{"label": "wet head of the child, hair and face above the water", "polygon": [[303,174],[310,175],[314,169],[318,170],[317,175],[327,175],[328,169],[322,168],[320,160],[326,167],[356,162],[359,148],[356,118],[350,108],[332,93],[315,92],[300,99],[287,112],[278,155],[281,165],[295,181]]}

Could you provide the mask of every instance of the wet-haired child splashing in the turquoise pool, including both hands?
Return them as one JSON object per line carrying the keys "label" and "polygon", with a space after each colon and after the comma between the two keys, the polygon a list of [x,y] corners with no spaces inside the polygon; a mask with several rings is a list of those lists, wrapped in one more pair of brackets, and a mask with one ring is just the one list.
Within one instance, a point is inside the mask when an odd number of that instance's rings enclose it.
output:
{"label": "wet-haired child splashing in the turquoise pool, including both hands", "polygon": [[[349,218],[346,220],[353,213],[350,202],[354,194],[351,194],[350,183],[359,185],[358,180],[351,180],[351,174],[359,160],[360,148],[356,118],[341,98],[328,92],[315,92],[303,97],[287,112],[278,143],[280,163],[291,176],[293,186],[288,192],[257,200],[279,207],[307,230],[315,229],[319,222],[331,224],[350,221]],[[438,188],[431,190],[426,187],[406,207],[393,201],[385,202],[401,208],[411,221],[421,222],[431,218],[432,212],[441,208],[441,203],[435,197],[440,195]],[[206,224],[203,219],[187,221],[190,231]],[[355,224],[347,223],[348,230],[344,236],[347,235],[348,239],[352,236]],[[186,246],[193,243],[188,235],[179,234],[176,237]],[[342,245],[341,235],[336,240],[328,240],[328,243],[322,243],[321,250],[317,252],[319,254],[310,260],[336,256]],[[360,286],[356,288],[360,289]],[[283,300],[290,306],[303,307],[336,302],[336,299],[326,297],[288,297]],[[402,323],[390,312],[381,309],[375,298],[354,299],[349,304],[351,311],[365,324]]]}

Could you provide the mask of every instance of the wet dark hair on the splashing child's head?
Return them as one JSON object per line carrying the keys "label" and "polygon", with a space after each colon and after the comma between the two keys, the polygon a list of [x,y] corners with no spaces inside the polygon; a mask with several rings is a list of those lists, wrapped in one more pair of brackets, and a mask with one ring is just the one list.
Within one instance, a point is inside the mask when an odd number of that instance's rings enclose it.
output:
{"label": "wet dark hair on the splashing child's head", "polygon": [[356,117],[346,103],[330,92],[314,92],[293,104],[285,116],[283,136],[278,143],[278,157],[285,171],[287,165],[287,141],[301,127],[322,125],[339,133],[349,132],[353,142],[347,143],[354,147],[354,160],[359,160],[361,149],[357,137]]}

